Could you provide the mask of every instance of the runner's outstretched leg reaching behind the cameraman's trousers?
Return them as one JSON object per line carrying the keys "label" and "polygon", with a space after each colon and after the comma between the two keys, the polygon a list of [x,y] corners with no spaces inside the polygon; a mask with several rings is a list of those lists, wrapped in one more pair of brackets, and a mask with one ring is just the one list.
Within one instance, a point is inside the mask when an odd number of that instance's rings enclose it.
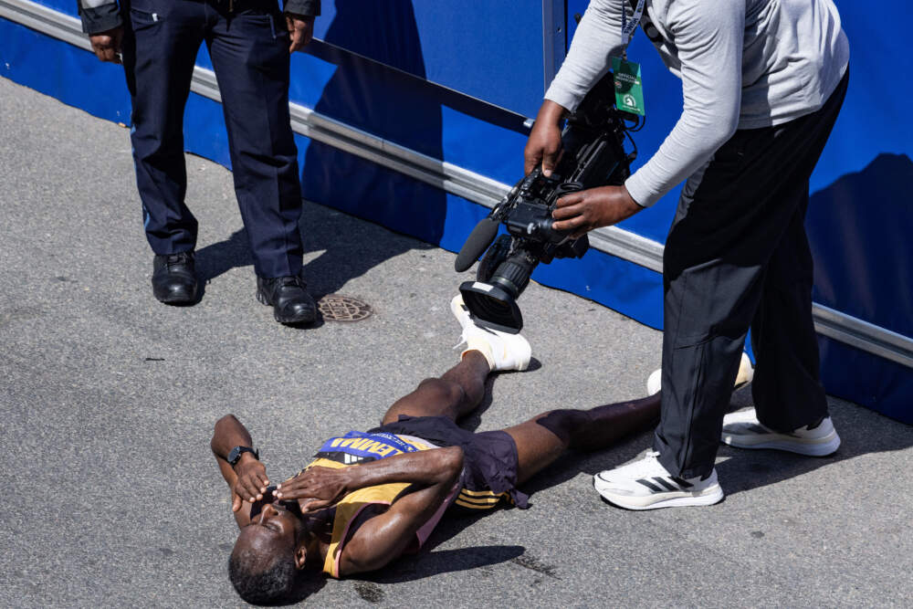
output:
{"label": "runner's outstretched leg reaching behind the cameraman's trousers", "polygon": [[517,444],[517,484],[530,479],[568,448],[606,448],[624,436],[656,425],[659,394],[597,406],[591,410],[552,410],[509,427]]}

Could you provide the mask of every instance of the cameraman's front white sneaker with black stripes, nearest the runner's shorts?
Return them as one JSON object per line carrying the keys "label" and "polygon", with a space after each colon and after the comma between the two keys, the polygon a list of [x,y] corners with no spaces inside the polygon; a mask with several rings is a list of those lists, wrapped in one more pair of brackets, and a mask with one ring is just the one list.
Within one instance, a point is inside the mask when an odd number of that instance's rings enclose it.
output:
{"label": "cameraman's front white sneaker with black stripes, nearest the runner's shorts", "polygon": [[655,450],[647,450],[635,461],[606,469],[593,476],[593,488],[609,503],[626,509],[709,506],[723,500],[716,469],[703,480],[677,478],[657,457]]}

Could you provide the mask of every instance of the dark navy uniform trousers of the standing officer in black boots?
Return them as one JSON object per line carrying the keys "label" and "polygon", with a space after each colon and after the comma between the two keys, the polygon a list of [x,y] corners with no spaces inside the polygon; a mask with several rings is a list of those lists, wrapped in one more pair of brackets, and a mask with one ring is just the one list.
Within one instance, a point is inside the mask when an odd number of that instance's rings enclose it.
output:
{"label": "dark navy uniform trousers of the standing officer in black boots", "polygon": [[196,219],[184,203],[184,105],[205,41],[255,270],[264,278],[298,275],[301,189],[289,121],[289,33],[277,0],[131,0],[128,10],[131,141],[152,251],[196,247]]}

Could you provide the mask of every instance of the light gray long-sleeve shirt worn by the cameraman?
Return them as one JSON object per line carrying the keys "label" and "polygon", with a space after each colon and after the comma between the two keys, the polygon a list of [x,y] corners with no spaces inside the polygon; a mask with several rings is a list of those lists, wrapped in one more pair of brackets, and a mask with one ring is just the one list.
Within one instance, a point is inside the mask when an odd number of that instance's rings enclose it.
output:
{"label": "light gray long-sleeve shirt worn by the cameraman", "polygon": [[[591,1],[547,100],[576,109],[609,58],[621,55],[625,7],[630,17],[628,0]],[[646,0],[640,24],[682,80],[684,99],[666,141],[624,183],[644,206],[707,163],[737,129],[821,108],[849,62],[831,0]]]}

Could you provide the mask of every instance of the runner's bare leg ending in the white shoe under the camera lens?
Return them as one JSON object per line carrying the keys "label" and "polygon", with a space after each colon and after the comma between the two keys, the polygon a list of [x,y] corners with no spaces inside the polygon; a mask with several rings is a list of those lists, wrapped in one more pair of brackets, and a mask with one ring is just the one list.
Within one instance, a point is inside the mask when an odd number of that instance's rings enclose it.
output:
{"label": "runner's bare leg ending in the white shoe under the camera lens", "polygon": [[443,376],[425,379],[414,392],[397,400],[383,415],[382,424],[393,423],[400,415],[446,416],[456,421],[481,403],[490,372],[485,356],[469,351]]}

